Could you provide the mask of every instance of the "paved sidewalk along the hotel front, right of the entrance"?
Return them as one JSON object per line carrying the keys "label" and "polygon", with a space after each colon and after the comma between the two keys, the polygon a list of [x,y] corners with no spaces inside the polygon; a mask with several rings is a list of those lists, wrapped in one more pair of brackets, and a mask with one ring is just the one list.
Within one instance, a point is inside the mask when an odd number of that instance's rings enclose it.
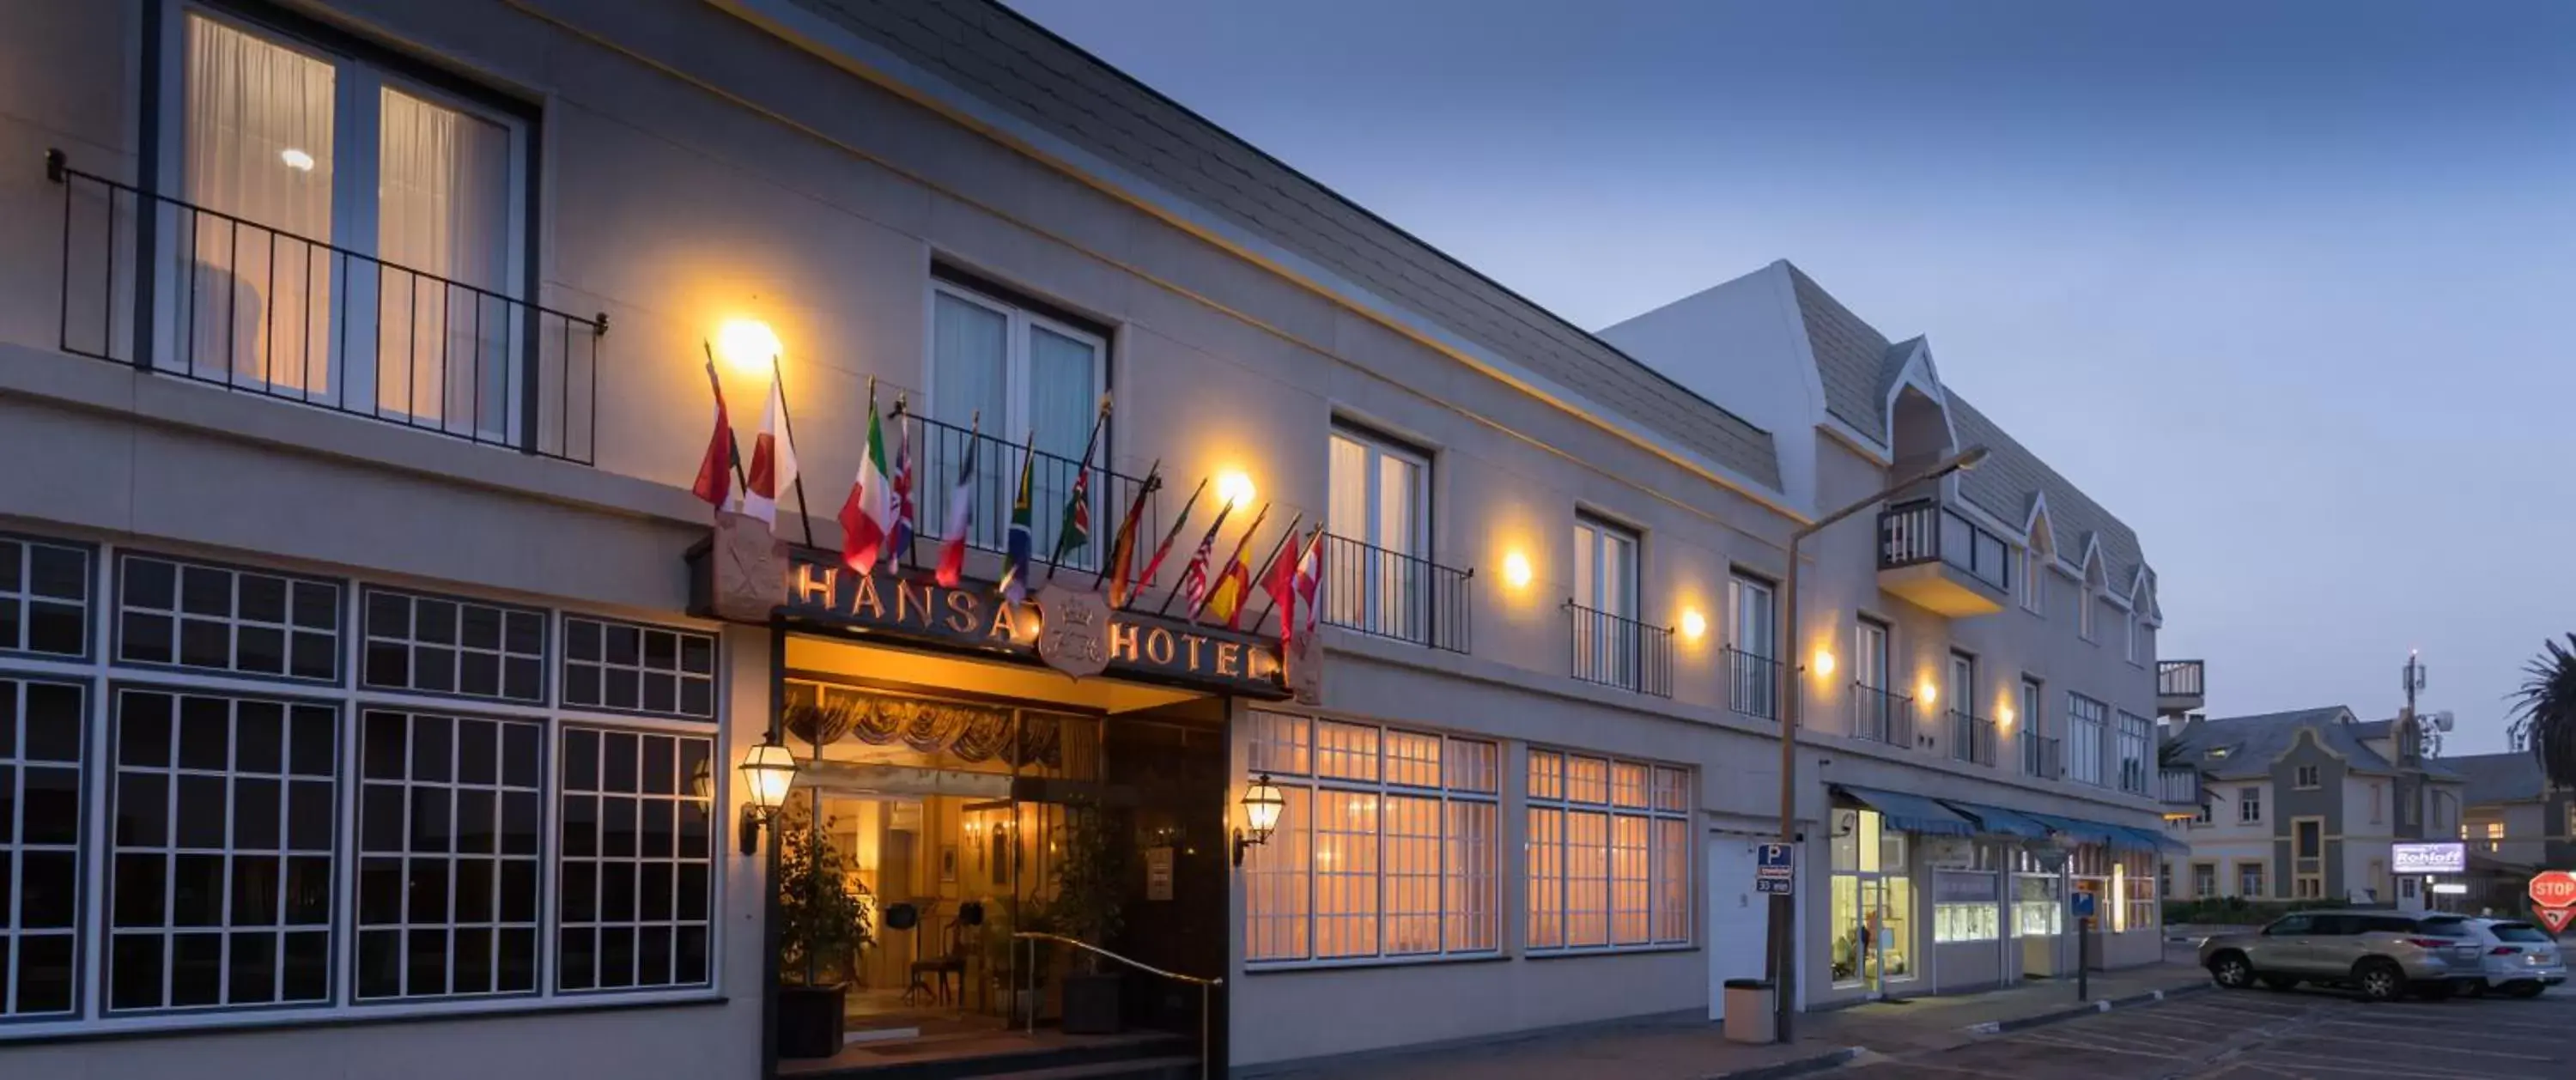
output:
{"label": "paved sidewalk along the hotel front, right of the entrance", "polygon": [[[1558,1036],[1492,1039],[1476,1046],[1396,1054],[1368,1062],[1316,1065],[1283,1077],[1350,1080],[1713,1080],[1777,1077],[1829,1070],[1850,1059],[1960,1046],[1981,1031],[2012,1031],[2092,1010],[2099,1003],[2151,1003],[2159,992],[2197,992],[2208,972],[2174,946],[2166,961],[2092,977],[2092,1003],[2076,1003],[2074,979],[2025,982],[2009,990],[1911,998],[1798,1016],[1793,1044],[1726,1041],[1716,1023],[1638,1023]],[[1991,1028],[1989,1028],[1991,1026]]]}

